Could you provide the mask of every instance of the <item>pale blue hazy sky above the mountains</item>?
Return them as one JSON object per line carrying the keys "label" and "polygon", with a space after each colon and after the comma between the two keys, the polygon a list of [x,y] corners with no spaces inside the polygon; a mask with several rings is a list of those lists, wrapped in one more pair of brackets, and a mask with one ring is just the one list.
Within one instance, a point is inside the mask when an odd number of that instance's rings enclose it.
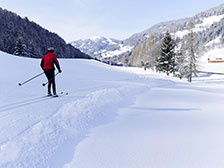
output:
{"label": "pale blue hazy sky above the mountains", "polygon": [[222,0],[0,0],[0,7],[57,33],[66,42],[119,40],[163,21],[194,16]]}

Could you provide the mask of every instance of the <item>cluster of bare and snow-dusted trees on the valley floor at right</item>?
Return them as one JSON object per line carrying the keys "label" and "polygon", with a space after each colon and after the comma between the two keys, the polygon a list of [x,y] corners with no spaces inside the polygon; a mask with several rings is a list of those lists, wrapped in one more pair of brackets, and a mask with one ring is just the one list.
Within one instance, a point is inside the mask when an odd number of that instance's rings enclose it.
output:
{"label": "cluster of bare and snow-dusted trees on the valley floor at right", "polygon": [[132,53],[131,65],[144,66],[156,72],[172,74],[187,78],[198,74],[198,50],[193,28],[189,29],[184,39],[174,40],[170,32],[166,32],[162,39],[150,35],[148,40],[141,43]]}

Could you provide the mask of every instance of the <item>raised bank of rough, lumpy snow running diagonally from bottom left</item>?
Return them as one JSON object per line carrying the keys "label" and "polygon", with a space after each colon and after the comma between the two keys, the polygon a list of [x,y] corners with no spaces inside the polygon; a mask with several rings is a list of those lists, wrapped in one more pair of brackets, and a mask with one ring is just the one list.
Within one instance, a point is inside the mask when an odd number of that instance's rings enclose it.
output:
{"label": "raised bank of rough, lumpy snow running diagonally from bottom left", "polygon": [[65,104],[48,119],[1,144],[0,167],[51,167],[48,163],[61,144],[69,137],[79,137],[77,135],[86,134],[90,128],[108,122],[117,108],[130,103],[129,95],[139,93],[141,88],[99,90]]}

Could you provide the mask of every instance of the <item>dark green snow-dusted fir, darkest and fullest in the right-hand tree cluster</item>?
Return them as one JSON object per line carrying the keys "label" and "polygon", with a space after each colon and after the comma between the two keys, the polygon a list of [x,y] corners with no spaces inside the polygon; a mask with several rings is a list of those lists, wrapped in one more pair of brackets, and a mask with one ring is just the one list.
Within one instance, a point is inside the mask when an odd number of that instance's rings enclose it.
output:
{"label": "dark green snow-dusted fir, darkest and fullest in the right-hand tree cluster", "polygon": [[167,75],[175,73],[175,43],[167,31],[161,45],[161,54],[157,58],[156,69],[160,72],[165,72]]}

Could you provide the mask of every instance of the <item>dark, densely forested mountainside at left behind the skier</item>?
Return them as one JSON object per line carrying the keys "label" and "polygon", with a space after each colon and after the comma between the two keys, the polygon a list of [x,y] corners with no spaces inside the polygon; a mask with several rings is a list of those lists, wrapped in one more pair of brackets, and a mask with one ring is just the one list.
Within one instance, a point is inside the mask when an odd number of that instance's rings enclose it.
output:
{"label": "dark, densely forested mountainside at left behind the skier", "polygon": [[40,58],[48,47],[55,48],[55,54],[59,58],[91,58],[74,48],[71,44],[52,33],[40,25],[29,21],[27,17],[21,18],[16,13],[0,8],[0,50],[13,54],[15,52],[16,41],[18,39],[25,47],[26,55]]}

